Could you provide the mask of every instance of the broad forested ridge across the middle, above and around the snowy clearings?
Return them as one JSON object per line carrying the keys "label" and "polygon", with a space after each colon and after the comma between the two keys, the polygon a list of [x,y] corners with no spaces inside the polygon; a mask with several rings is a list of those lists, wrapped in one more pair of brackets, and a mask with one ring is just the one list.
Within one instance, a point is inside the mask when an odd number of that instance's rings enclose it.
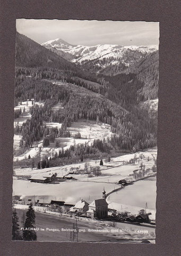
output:
{"label": "broad forested ridge across the middle, above and around the snowy clearings", "polygon": [[[156,144],[156,121],[148,118],[146,110],[137,108],[127,111],[100,94],[68,83],[59,86],[27,78],[24,81],[21,78],[19,82],[16,81],[15,98],[25,100],[35,97],[36,101],[45,101],[44,107],[32,107],[32,117],[22,127],[26,146],[43,137],[43,121],[63,123],[65,133],[71,122],[81,118],[110,124],[117,134],[110,143],[119,149],[140,149]],[[63,108],[54,111],[52,107],[58,102],[63,103]]]}

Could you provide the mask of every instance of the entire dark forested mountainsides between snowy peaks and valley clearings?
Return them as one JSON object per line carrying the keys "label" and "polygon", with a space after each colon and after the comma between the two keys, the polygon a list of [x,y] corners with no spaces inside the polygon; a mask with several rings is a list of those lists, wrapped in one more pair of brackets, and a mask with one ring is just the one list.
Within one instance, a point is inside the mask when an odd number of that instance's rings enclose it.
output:
{"label": "entire dark forested mountainsides between snowy peaks and valley clearings", "polygon": [[[115,76],[111,76],[115,71],[107,76],[91,74],[17,33],[15,106],[28,99],[44,102],[43,106],[32,104],[31,118],[16,125],[15,134],[22,135],[21,147],[32,147],[40,139],[46,146],[57,137],[70,137],[67,127],[81,119],[109,124],[114,133],[107,140],[95,141],[91,147],[96,151],[89,149],[91,154],[156,146],[157,119],[138,103],[157,97],[158,53],[145,55],[141,61],[135,57],[133,62]],[[61,107],[54,109],[57,103]],[[62,127],[47,129],[45,122],[62,123]],[[81,147],[82,157],[88,145]],[[74,154],[72,148],[66,157]]]}

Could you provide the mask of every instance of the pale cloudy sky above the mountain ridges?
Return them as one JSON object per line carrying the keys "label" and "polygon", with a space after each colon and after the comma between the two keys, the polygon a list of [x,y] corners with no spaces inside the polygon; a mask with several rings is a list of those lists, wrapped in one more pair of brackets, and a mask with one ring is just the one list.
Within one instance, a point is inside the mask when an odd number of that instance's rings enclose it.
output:
{"label": "pale cloudy sky above the mountain ridges", "polygon": [[56,38],[87,46],[159,44],[159,22],[16,19],[16,30],[39,44]]}

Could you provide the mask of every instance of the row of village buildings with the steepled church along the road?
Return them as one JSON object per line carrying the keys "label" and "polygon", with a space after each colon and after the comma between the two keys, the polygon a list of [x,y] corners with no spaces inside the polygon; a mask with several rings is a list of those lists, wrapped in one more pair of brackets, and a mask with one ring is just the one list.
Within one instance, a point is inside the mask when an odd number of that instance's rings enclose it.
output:
{"label": "row of village buildings with the steepled church along the road", "polygon": [[[21,198],[14,197],[14,202],[18,204],[29,205],[32,203],[36,206],[45,206],[53,211],[56,211],[58,206],[63,206],[64,210],[80,216],[87,216],[88,218],[106,219],[108,218],[108,203],[106,202],[106,191],[102,191],[102,198],[94,199],[90,204],[81,199],[75,205],[66,204],[61,201],[61,198],[55,197],[52,199],[51,196],[24,196]],[[146,213],[145,210],[140,210],[140,213],[136,215],[129,215],[123,217],[122,215],[113,213],[110,215],[111,219],[117,221],[128,221],[128,222],[147,222],[151,223],[149,219],[151,213]],[[155,225],[155,222],[152,223]]]}

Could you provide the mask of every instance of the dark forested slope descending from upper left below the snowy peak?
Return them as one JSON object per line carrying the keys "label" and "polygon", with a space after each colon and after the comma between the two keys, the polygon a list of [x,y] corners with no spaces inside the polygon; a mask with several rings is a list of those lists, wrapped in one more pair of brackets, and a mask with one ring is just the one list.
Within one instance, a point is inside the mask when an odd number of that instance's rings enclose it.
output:
{"label": "dark forested slope descending from upper left below the snowy peak", "polygon": [[18,32],[16,32],[15,66],[16,68],[33,68],[33,71],[37,74],[45,70],[61,70],[64,77],[77,76],[93,82],[97,81],[96,77],[89,71],[81,70],[74,63],[65,60]]}

